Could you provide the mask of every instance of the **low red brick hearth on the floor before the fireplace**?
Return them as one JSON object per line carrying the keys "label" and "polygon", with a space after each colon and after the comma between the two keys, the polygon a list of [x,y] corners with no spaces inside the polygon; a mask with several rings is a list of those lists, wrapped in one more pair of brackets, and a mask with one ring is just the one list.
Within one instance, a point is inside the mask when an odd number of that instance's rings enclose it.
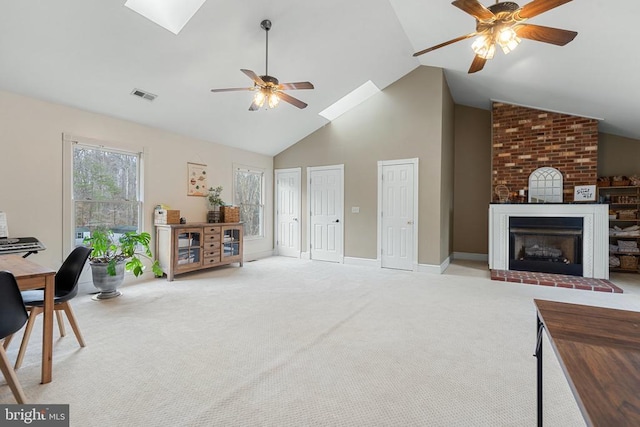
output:
{"label": "low red brick hearth on the floor before the fireplace", "polygon": [[564,274],[533,273],[529,271],[491,270],[491,280],[525,283],[529,285],[555,286],[558,288],[582,289],[585,291],[621,294],[622,289],[608,280]]}

